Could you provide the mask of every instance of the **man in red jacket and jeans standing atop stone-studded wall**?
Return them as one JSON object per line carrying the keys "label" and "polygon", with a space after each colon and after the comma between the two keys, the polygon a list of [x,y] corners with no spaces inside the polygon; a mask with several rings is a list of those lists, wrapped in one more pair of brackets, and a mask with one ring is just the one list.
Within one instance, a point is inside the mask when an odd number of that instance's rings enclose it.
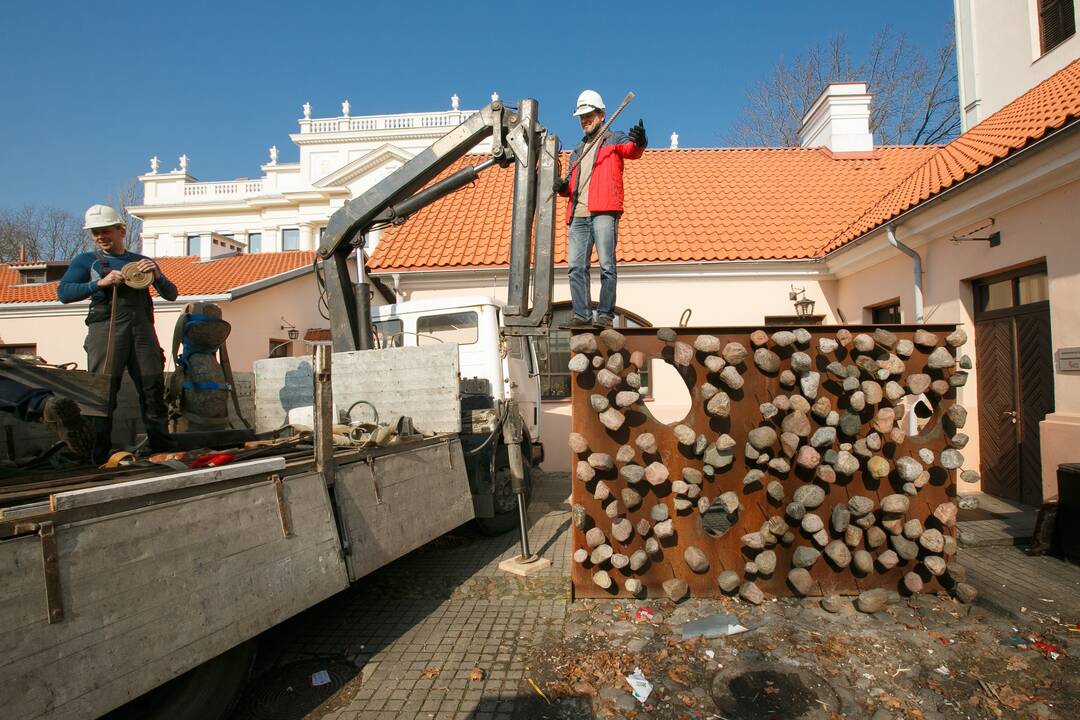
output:
{"label": "man in red jacket and jeans standing atop stone-studded wall", "polygon": [[622,163],[640,158],[649,140],[640,120],[627,134],[608,130],[597,137],[604,125],[604,98],[595,91],[586,90],[578,96],[573,114],[581,121],[585,136],[570,153],[569,176],[556,182],[558,193],[570,199],[566,222],[570,226],[567,262],[573,318],[569,324],[593,324],[589,259],[595,246],[600,264],[596,324],[610,327],[615,318],[615,253],[622,217]]}

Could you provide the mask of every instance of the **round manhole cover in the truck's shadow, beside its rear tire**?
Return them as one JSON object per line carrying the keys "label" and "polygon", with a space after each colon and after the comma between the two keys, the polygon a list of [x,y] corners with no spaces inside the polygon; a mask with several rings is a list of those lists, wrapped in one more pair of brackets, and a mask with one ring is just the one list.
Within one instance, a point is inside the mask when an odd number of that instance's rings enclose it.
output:
{"label": "round manhole cover in the truck's shadow, beside its rear tire", "polygon": [[[321,675],[323,671],[325,675]],[[356,677],[357,671],[341,661],[318,658],[283,665],[247,684],[235,718],[301,720]],[[325,684],[313,684],[315,682]]]}

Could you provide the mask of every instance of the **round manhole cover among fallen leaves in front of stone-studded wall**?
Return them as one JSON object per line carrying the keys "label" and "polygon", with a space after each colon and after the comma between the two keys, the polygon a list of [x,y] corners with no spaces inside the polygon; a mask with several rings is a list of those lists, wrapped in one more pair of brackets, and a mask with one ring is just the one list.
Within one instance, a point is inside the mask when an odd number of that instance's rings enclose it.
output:
{"label": "round manhole cover among fallen leaves in front of stone-studded wall", "polygon": [[713,702],[730,720],[827,720],[840,709],[836,691],[813,673],[773,666],[713,678]]}

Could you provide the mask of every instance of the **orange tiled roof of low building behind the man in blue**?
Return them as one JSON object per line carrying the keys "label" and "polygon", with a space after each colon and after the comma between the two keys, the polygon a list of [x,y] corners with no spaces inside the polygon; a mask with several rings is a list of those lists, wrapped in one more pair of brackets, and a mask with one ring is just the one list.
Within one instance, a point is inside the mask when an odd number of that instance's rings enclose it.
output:
{"label": "orange tiled roof of low building behind the man in blue", "polygon": [[[208,262],[197,257],[157,258],[162,272],[176,284],[180,296],[221,295],[242,285],[310,267],[314,253],[255,253]],[[56,283],[15,285],[18,271],[0,264],[0,303],[51,302],[56,300]],[[152,289],[151,289],[152,291]]]}

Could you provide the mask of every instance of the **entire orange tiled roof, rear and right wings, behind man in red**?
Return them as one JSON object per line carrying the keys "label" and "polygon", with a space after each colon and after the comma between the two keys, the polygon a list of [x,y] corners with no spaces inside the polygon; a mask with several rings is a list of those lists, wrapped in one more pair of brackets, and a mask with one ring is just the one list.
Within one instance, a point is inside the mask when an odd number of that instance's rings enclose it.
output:
{"label": "entire orange tiled roof, rear and right wings, behind man in red", "polygon": [[[821,257],[1080,114],[1080,60],[946,146],[648,150],[626,163],[622,263]],[[467,158],[444,173],[477,162]],[[564,160],[564,167],[566,163]],[[508,263],[513,171],[494,167],[386,231],[373,271]],[[566,262],[558,200],[555,262]]]}

